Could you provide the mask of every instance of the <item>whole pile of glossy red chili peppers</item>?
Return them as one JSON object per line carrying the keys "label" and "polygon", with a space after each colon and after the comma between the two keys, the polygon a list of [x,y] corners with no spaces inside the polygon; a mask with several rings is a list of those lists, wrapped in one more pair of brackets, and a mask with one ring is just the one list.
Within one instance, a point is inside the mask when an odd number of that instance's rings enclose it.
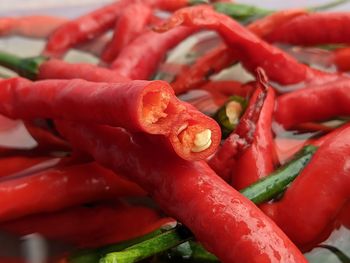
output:
{"label": "whole pile of glossy red chili peppers", "polygon": [[[1,37],[47,39],[35,58],[0,51],[0,65],[19,75],[0,79],[1,233],[68,244],[50,262],[77,263],[74,247],[99,248],[94,257],[108,263],[114,254],[100,247],[178,222],[185,241],[220,262],[301,263],[349,227],[350,13],[252,9],[243,25],[216,10],[234,3],[202,2],[119,0],[73,20],[0,18]],[[172,82],[153,79],[174,47],[208,30],[214,47],[197,43],[203,55],[176,65]],[[275,43],[333,45],[333,71]],[[73,48],[100,64],[65,62]],[[255,80],[215,78],[237,63]],[[278,196],[257,205],[243,194],[307,145],[316,153]],[[0,262],[24,259],[0,248]]]}

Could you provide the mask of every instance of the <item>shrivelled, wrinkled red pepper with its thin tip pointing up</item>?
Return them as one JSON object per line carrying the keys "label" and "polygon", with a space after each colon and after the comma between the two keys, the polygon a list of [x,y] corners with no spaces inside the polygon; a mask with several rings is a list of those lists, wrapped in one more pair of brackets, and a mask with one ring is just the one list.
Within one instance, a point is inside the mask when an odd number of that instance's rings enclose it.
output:
{"label": "shrivelled, wrinkled red pepper with its thin tip pointing up", "polygon": [[[240,119],[236,129],[225,140],[221,148],[210,159],[209,165],[225,181],[229,181],[232,174],[232,168],[239,155],[245,149],[251,146],[254,141],[257,122],[264,105],[268,89],[266,88],[267,79],[260,71],[257,82],[257,88],[249,101],[249,105]],[[271,92],[270,92],[271,93]],[[273,96],[273,95],[270,95]]]}

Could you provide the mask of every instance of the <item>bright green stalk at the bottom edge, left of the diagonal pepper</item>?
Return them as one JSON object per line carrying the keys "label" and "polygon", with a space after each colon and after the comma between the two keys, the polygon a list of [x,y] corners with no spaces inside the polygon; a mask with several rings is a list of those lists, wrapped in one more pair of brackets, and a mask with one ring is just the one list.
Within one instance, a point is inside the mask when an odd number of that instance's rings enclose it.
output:
{"label": "bright green stalk at the bottom edge, left of the diagonal pepper", "polygon": [[128,247],[120,252],[107,254],[100,263],[131,263],[138,262],[150,256],[164,252],[193,238],[193,235],[183,226],[178,226],[139,244]]}

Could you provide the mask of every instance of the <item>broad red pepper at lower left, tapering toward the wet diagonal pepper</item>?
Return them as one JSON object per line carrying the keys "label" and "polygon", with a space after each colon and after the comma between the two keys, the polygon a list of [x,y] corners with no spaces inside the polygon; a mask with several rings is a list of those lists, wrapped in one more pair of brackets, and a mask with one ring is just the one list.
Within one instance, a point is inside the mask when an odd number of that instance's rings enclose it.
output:
{"label": "broad red pepper at lower left, tapering toward the wet diagonal pepper", "polygon": [[96,163],[55,167],[9,178],[1,182],[0,193],[1,222],[98,200],[145,196],[140,187]]}

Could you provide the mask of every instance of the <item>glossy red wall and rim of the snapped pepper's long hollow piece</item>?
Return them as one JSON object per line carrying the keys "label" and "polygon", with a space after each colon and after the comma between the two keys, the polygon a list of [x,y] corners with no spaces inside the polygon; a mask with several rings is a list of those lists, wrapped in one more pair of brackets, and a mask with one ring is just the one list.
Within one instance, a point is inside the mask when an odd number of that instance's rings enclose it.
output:
{"label": "glossy red wall and rim of the snapped pepper's long hollow piece", "polygon": [[[0,86],[0,112],[14,119],[58,118],[164,134],[164,129],[169,127],[162,126],[167,123],[159,125],[157,130],[146,124],[142,115],[144,94],[151,91],[168,93],[175,101],[174,112],[181,108],[173,90],[163,81],[93,83],[73,79],[30,82],[12,78],[1,81]],[[173,115],[169,114],[170,123],[175,119]]]}

